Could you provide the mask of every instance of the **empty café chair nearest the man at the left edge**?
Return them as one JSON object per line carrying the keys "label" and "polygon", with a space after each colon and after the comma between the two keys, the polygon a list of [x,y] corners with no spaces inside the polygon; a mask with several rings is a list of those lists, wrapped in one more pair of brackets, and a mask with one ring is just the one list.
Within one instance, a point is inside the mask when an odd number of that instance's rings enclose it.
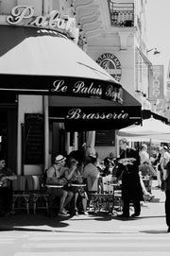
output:
{"label": "empty caf\u00e9 chair nearest the man at the left edge", "polygon": [[14,210],[26,209],[29,214],[30,194],[26,191],[26,176],[17,176],[12,180],[12,213]]}

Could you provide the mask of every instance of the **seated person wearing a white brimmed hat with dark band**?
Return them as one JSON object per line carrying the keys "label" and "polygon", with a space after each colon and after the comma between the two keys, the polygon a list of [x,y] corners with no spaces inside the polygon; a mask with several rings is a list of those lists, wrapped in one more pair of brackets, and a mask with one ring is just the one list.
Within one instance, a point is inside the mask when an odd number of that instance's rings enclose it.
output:
{"label": "seated person wearing a white brimmed hat with dark band", "polygon": [[62,155],[56,157],[54,164],[46,171],[46,184],[47,185],[63,185],[63,188],[57,188],[52,190],[52,196],[59,196],[59,215],[68,216],[69,214],[65,210],[66,205],[71,201],[74,196],[73,192],[64,189],[67,180],[64,178],[64,165],[65,158]]}

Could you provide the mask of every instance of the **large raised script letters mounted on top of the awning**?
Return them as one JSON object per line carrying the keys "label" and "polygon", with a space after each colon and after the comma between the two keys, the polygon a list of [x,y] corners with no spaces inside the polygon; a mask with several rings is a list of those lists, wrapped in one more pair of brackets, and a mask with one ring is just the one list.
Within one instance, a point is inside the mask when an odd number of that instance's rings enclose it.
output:
{"label": "large raised script letters mounted on top of the awning", "polygon": [[62,33],[69,33],[73,37],[76,35],[76,19],[67,15],[61,17],[59,10],[52,10],[46,16],[34,16],[33,7],[16,6],[7,16],[7,22],[9,25],[50,28]]}

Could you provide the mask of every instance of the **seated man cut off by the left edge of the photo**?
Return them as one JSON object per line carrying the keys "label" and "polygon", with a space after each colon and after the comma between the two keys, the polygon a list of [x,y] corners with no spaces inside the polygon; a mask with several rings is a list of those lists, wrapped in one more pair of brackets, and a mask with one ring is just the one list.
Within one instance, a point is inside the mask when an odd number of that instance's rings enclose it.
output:
{"label": "seated man cut off by the left edge of the photo", "polygon": [[10,180],[16,179],[15,174],[6,167],[6,161],[0,156],[0,213],[8,215],[11,212],[12,189]]}

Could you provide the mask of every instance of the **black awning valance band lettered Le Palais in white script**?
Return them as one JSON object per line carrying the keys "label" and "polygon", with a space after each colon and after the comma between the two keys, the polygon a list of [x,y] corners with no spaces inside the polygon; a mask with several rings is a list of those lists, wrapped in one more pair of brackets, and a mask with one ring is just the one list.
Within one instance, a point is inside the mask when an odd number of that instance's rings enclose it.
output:
{"label": "black awning valance band lettered Le Palais in white script", "polygon": [[[123,89],[111,81],[82,77],[53,77],[0,74],[6,81],[0,91],[17,94],[50,94],[107,99],[123,104]],[[15,88],[13,80],[16,81]]]}

